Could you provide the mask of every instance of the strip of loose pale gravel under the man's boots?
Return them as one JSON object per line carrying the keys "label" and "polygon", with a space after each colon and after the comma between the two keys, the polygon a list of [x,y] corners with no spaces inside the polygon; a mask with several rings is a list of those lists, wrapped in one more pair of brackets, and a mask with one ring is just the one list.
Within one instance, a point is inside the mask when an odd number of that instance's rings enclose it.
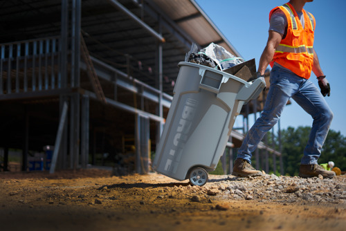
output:
{"label": "strip of loose pale gravel under the man's boots", "polygon": [[[222,176],[221,176],[222,177]],[[257,178],[211,180],[205,190],[215,190],[220,196],[235,200],[284,203],[346,203],[346,178],[300,178],[297,176],[265,175]]]}

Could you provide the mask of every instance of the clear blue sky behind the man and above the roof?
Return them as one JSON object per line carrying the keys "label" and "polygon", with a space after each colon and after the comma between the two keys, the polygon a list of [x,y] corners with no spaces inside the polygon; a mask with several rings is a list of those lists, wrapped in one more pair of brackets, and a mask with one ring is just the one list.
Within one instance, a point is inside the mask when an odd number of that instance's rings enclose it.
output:
{"label": "clear blue sky behind the man and above the roof", "polygon": [[[268,39],[268,14],[280,0],[195,0],[244,59],[255,58],[256,64]],[[334,112],[331,129],[346,136],[346,19],[345,0],[315,0],[304,9],[316,18],[314,48],[320,59],[322,71],[331,85],[331,95],[326,100]],[[316,76],[311,81],[318,84]],[[235,126],[239,123],[236,120]],[[311,126],[312,118],[292,100],[284,109],[281,127]]]}

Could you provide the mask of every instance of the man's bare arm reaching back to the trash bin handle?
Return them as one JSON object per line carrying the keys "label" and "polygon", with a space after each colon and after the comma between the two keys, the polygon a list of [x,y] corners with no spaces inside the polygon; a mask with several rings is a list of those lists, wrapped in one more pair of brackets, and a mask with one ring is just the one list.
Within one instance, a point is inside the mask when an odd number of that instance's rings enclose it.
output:
{"label": "man's bare arm reaching back to the trash bin handle", "polygon": [[261,75],[264,75],[267,66],[271,63],[275,54],[275,49],[279,46],[281,39],[282,34],[274,30],[269,30],[268,41],[266,42],[266,47],[263,50],[260,63],[258,64],[258,72],[260,72]]}

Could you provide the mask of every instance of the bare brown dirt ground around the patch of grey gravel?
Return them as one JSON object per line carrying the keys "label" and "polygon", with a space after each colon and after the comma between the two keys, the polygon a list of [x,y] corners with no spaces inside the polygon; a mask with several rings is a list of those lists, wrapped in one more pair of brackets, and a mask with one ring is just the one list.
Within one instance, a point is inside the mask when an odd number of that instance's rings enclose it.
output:
{"label": "bare brown dirt ground around the patch of grey gravel", "polygon": [[[341,190],[345,180],[333,179]],[[0,172],[0,230],[346,229],[345,200],[284,201],[257,191],[234,198],[230,181],[271,184],[210,175],[197,187],[161,174],[111,176],[101,169]]]}

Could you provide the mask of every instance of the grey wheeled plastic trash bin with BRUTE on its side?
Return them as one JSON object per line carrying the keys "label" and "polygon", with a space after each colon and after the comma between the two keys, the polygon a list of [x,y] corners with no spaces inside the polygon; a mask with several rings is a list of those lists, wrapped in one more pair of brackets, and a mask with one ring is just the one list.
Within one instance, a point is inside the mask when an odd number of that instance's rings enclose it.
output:
{"label": "grey wheeled plastic trash bin with BRUTE on its side", "polygon": [[224,153],[243,105],[260,95],[264,80],[234,75],[190,62],[179,63],[174,97],[153,168],[178,181],[204,185]]}

